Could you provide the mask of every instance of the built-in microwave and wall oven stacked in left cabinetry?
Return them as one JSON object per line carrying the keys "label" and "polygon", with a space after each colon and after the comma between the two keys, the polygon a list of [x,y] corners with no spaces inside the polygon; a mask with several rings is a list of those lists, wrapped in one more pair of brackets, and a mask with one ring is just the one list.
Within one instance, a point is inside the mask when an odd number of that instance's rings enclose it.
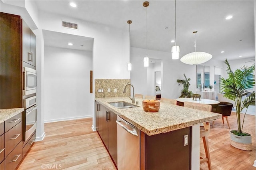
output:
{"label": "built-in microwave and wall oven stacked in left cabinetry", "polygon": [[36,105],[36,70],[23,67],[23,107],[25,111],[23,120],[23,141],[28,142],[36,131],[37,105]]}

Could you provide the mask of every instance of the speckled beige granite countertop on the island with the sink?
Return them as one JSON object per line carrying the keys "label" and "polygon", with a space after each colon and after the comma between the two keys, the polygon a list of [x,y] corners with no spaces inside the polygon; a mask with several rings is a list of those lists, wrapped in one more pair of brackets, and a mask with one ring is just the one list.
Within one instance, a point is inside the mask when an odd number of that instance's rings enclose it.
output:
{"label": "speckled beige granite countertop on the island with the sink", "polygon": [[138,107],[127,109],[118,109],[109,103],[120,101],[132,103],[129,97],[96,98],[95,100],[149,136],[222,118],[222,115],[218,113],[200,111],[162,102],[158,112],[145,112],[142,108],[142,101],[144,99],[139,98],[135,98],[135,101],[139,102]]}

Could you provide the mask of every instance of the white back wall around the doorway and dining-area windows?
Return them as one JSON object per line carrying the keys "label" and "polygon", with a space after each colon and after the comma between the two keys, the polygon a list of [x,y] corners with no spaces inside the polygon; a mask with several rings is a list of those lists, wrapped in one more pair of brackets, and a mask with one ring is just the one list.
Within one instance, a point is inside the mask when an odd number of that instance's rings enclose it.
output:
{"label": "white back wall around the doorway and dining-area windows", "polygon": [[[182,85],[178,85],[177,79],[184,79],[184,73],[187,78],[190,78],[190,88],[193,93],[196,93],[196,65],[187,65],[178,60],[171,59],[171,53],[162,51],[147,50],[148,56],[154,59],[161,59],[162,65],[162,97],[176,99],[180,96]],[[145,95],[152,94],[148,88],[152,88],[152,77],[154,77],[151,67],[143,66],[143,57],[145,49],[136,47],[131,48],[131,83],[135,87],[135,92]],[[210,66],[210,84],[214,84],[214,66],[224,67],[224,62],[211,59],[203,65]],[[224,69],[225,70],[225,69]],[[146,84],[146,83],[150,84]],[[153,81],[154,82],[154,81]],[[147,87],[147,88],[145,88]],[[154,86],[153,86],[154,87]]]}

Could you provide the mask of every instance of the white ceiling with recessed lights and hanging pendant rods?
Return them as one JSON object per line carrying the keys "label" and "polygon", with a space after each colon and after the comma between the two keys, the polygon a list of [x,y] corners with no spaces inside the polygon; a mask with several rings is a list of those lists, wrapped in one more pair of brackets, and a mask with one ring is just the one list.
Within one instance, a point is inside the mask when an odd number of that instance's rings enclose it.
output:
{"label": "white ceiling with recessed lights and hanging pendant rods", "polygon": [[[131,46],[145,48],[146,20],[141,0],[37,0],[39,10],[104,24],[128,32],[132,20]],[[147,49],[170,52],[174,40],[174,0],[150,0],[147,7]],[[226,16],[233,18],[225,20]],[[165,29],[168,27],[168,29]],[[194,51],[213,55],[214,59],[254,57],[254,1],[249,0],[177,0],[176,38],[180,57]],[[47,34],[47,33],[46,33]],[[53,37],[54,34],[51,34]],[[61,37],[60,37],[61,38]],[[77,37],[71,39],[77,40]],[[56,39],[57,40],[57,39]],[[61,40],[60,40],[61,41]],[[78,39],[78,43],[82,43]],[[48,42],[46,38],[46,42]],[[91,39],[91,43],[93,39]],[[92,45],[91,45],[92,46]],[[225,51],[220,53],[220,51]]]}

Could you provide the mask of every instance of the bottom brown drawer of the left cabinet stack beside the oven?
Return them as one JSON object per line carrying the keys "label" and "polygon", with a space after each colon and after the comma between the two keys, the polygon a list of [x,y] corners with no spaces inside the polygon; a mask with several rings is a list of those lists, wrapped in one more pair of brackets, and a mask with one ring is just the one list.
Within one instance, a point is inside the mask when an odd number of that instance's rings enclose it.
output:
{"label": "bottom brown drawer of the left cabinet stack beside the oven", "polygon": [[[5,158],[8,170],[14,170],[22,160],[22,142],[20,142],[14,150]],[[2,168],[1,168],[2,169]]]}

